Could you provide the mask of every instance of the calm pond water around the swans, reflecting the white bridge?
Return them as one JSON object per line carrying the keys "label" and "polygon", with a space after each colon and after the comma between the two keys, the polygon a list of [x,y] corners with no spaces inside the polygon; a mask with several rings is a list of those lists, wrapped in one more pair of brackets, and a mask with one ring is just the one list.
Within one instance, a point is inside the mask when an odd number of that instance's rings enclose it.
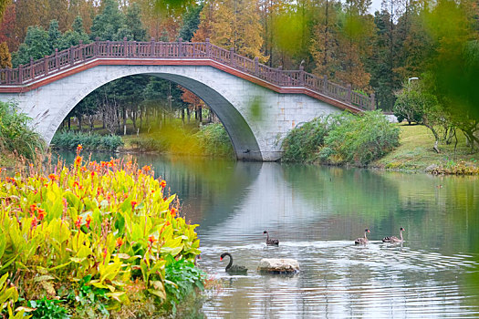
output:
{"label": "calm pond water around the swans, reflecting the white bridge", "polygon": [[[208,318],[479,317],[479,179],[140,157],[199,223]],[[387,235],[405,242],[383,244]],[[370,244],[355,238],[370,228]],[[266,247],[263,231],[278,238]],[[224,273],[222,252],[247,276]],[[301,272],[260,275],[261,258]]]}

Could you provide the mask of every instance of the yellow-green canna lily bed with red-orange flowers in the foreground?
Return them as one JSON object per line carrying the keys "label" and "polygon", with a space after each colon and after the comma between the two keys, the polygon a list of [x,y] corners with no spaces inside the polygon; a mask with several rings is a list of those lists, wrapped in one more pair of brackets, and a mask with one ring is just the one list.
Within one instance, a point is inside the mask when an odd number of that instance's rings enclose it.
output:
{"label": "yellow-green canna lily bed with red-orange flowers in the foreground", "polygon": [[[80,153],[78,146],[74,164],[58,162],[53,171],[41,164],[10,177],[0,171],[0,276],[26,300],[83,283],[107,292],[109,309],[118,309],[129,302],[126,287],[140,281],[165,301],[167,261],[194,262],[197,225],[179,216],[175,195],[149,166],[85,161]],[[28,283],[39,288],[21,289]]]}

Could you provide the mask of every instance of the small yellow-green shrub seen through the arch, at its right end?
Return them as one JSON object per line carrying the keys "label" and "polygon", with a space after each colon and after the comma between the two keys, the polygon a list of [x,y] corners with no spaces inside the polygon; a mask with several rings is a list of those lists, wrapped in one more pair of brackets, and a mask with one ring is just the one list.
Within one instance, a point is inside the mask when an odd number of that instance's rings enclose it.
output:
{"label": "small yellow-green shrub seen through the arch, at its right end", "polygon": [[200,131],[195,134],[195,138],[198,139],[204,154],[219,157],[234,157],[231,139],[221,123],[203,126]]}

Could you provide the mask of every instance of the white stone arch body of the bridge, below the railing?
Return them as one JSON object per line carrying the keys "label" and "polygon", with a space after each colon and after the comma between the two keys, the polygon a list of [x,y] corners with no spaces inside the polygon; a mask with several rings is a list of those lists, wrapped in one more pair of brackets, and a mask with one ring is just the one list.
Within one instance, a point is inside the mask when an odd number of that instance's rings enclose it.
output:
{"label": "white stone arch body of the bridge, below the railing", "polygon": [[[73,72],[75,71],[75,72]],[[0,100],[15,100],[33,118],[49,143],[62,120],[90,92],[120,77],[150,75],[191,90],[213,109],[227,130],[237,159],[278,160],[281,140],[298,124],[341,108],[301,93],[281,93],[212,66],[80,65],[42,79],[28,89],[0,91]],[[35,87],[35,88],[31,88]]]}

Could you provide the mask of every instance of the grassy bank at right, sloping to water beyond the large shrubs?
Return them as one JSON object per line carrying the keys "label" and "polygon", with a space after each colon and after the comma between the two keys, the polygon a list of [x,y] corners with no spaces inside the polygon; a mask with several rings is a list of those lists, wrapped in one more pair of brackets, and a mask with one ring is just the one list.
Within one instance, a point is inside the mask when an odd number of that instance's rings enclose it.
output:
{"label": "grassy bank at right, sloping to water beyond the large shrubs", "polygon": [[[399,125],[401,129],[401,145],[393,149],[380,160],[370,163],[371,168],[390,170],[425,171],[428,167],[437,166],[439,170],[454,173],[462,167],[475,168],[479,165],[479,152],[471,154],[466,146],[463,133],[458,132],[457,148],[454,143],[440,145],[440,153],[432,149],[434,137],[429,129],[422,125]],[[473,169],[474,170],[474,169]],[[439,172],[439,171],[438,171]],[[477,173],[477,172],[476,172]]]}

